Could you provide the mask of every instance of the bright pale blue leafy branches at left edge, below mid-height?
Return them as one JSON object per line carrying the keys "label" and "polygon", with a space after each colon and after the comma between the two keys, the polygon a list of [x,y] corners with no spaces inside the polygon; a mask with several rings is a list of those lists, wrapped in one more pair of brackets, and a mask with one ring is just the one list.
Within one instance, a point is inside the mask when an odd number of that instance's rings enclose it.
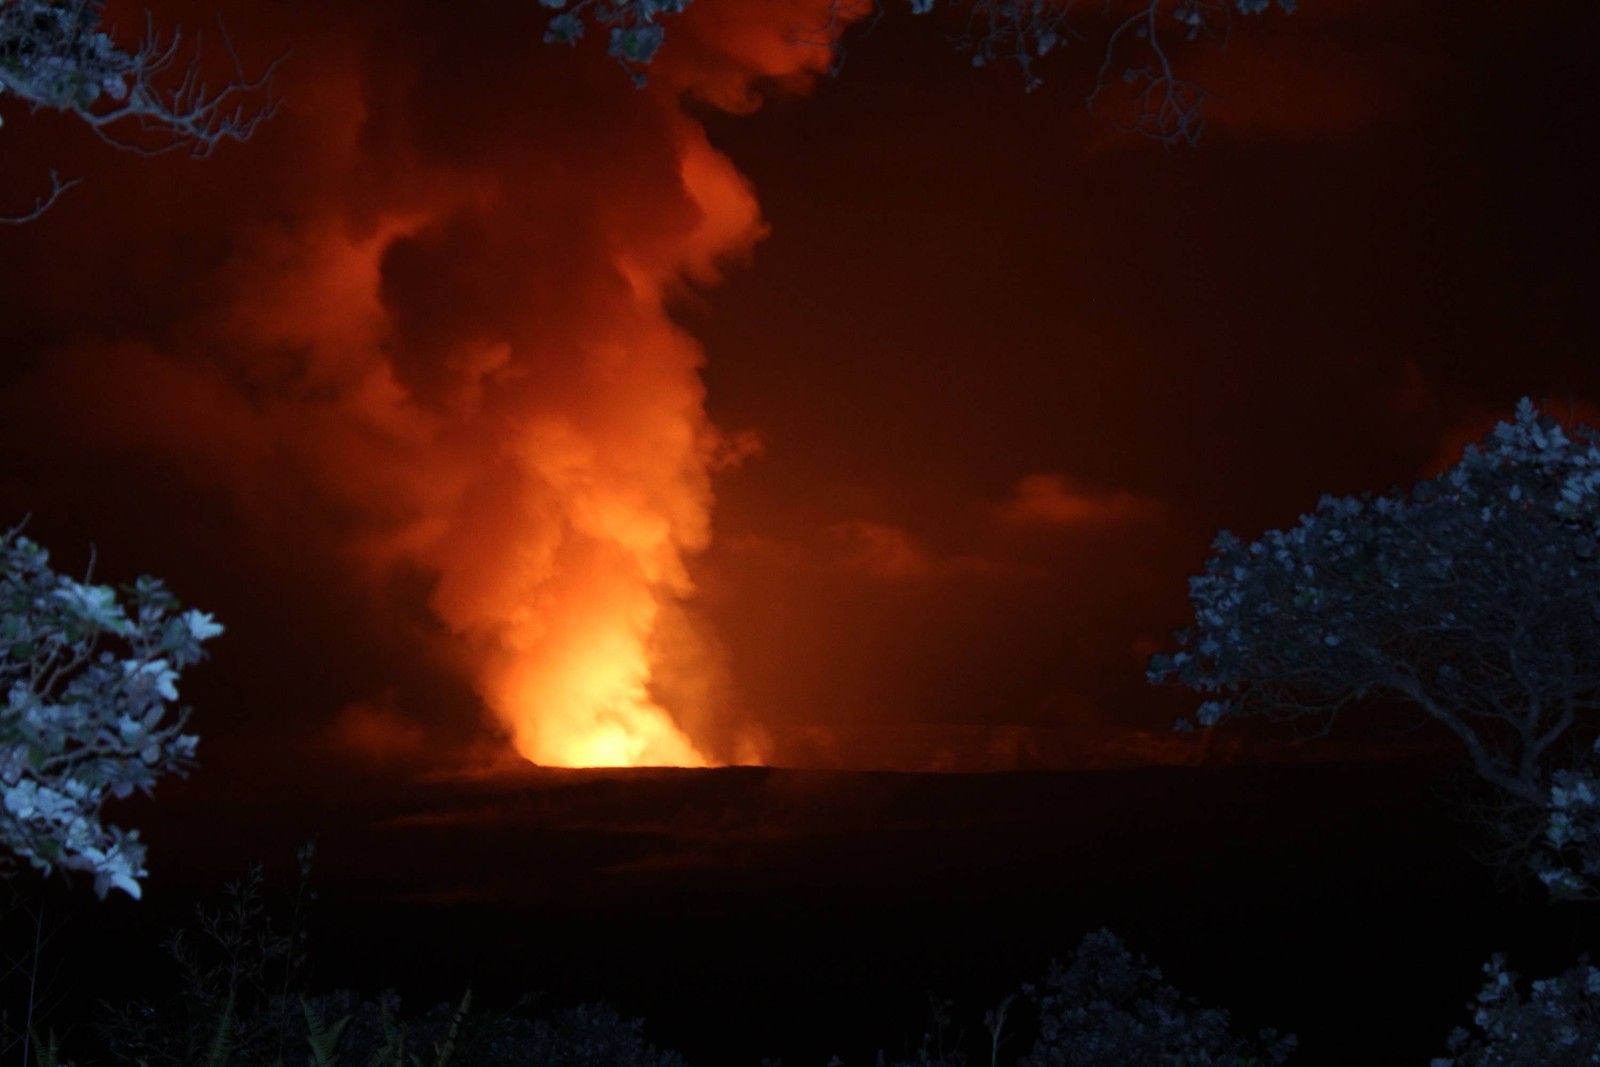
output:
{"label": "bright pale blue leafy branches at left edge, below mid-height", "polygon": [[141,577],[107,585],[56,574],[16,530],[0,534],[0,845],[50,873],[94,875],[94,893],[139,896],[138,830],[101,822],[107,797],[149,792],[194,765],[178,675],[222,627],[179,611]]}

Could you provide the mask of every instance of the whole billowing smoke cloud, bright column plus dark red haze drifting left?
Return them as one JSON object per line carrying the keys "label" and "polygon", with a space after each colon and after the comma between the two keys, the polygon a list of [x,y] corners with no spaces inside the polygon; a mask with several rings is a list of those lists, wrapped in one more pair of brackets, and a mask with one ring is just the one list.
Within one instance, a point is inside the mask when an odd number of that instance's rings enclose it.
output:
{"label": "whole billowing smoke cloud, bright column plus dark red haze drifting left", "polygon": [[[790,30],[824,13],[702,0],[643,91],[597,42],[544,45],[547,11],[525,0],[230,13],[235,37],[294,46],[283,114],[203,166],[115,160],[125,182],[22,238],[50,240],[50,262],[158,251],[120,280],[147,306],[40,328],[13,426],[59,437],[88,405],[101,418],[66,448],[131,450],[226,493],[253,545],[334,558],[374,611],[421,582],[443,624],[430,654],[530,760],[760,758],[718,709],[667,707],[653,685],[696,657],[714,670],[682,609],[686,563],[710,537],[714,469],[749,450],[707,419],[702,352],[669,306],[765,232],[682,99],[747,110],[758,80],[803,83],[827,53]],[[70,131],[40,136],[61,138],[42,157],[80,152]],[[160,187],[174,174],[182,195]],[[93,219],[136,203],[150,216],[107,248]],[[416,750],[403,702],[360,694],[323,736]]]}

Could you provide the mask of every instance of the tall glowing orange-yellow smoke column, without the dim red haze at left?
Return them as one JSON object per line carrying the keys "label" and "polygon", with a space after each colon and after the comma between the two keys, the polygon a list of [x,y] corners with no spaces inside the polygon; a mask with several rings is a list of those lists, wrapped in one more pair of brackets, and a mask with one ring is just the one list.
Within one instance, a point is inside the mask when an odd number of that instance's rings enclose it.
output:
{"label": "tall glowing orange-yellow smoke column, without the dim red haze at left", "polygon": [[[576,368],[566,374],[571,392],[552,405],[534,382],[507,390],[526,403],[502,408],[507,466],[496,498],[458,512],[426,553],[442,574],[435,609],[477,638],[485,699],[517,752],[539,765],[758,760],[749,731],[717,733],[717,709],[667,709],[653,688],[669,646],[704,661],[688,670],[712,669],[694,635],[682,632],[682,613],[670,641],[662,640],[662,616],[693,593],[686,561],[710,539],[712,470],[750,450],[706,418],[701,349],[666,304],[686,282],[715,283],[730,258],[765,235],[749,182],[678,98],[698,93],[744,109],[754,77],[794,78],[822,66],[814,46],[749,19],[736,26],[757,38],[746,40],[750,54],[717,40],[730,32],[717,19],[734,10],[742,8],[706,13],[717,34],[685,37],[686,48],[717,45],[706,78],[680,61],[664,66],[645,96],[675,157],[677,203],[643,235],[611,234],[610,267],[626,286],[589,294],[589,317],[560,354]],[[794,18],[792,10],[776,14]],[[747,64],[739,93],[730,82],[734,62]],[[514,352],[510,374],[518,363]],[[670,667],[688,672],[683,662]],[[707,736],[690,736],[688,723]]]}

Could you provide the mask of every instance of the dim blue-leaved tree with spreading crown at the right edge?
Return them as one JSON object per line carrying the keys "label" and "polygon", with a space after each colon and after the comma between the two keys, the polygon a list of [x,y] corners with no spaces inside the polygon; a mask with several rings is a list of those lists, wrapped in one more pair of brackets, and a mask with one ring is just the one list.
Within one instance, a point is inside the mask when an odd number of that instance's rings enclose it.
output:
{"label": "dim blue-leaved tree with spreading crown at the right edge", "polygon": [[1499,797],[1491,829],[1552,894],[1600,894],[1600,437],[1578,435],[1523,398],[1410,493],[1323,496],[1253,544],[1224,530],[1150,681],[1213,694],[1205,726],[1326,731],[1366,697],[1411,704],[1459,739]]}

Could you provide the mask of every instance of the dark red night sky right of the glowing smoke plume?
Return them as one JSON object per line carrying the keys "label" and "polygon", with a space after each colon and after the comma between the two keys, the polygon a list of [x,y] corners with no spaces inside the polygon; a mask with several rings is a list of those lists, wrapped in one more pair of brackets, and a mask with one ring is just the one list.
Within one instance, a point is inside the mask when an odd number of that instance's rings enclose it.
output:
{"label": "dark red night sky right of the glowing smoke plume", "polygon": [[[1595,210],[1552,104],[1589,16],[1558,8],[1235,19],[1226,51],[1174,51],[1227,98],[1198,150],[1085,114],[1093,38],[1022,94],[894,11],[838,88],[712,120],[771,224],[693,320],[712,413],[766,443],[701,566],[747,701],[837,737],[1165,729],[1198,697],[1144,665],[1219,528],[1410,485],[1469,411],[1592,394]],[[1038,475],[1061,482],[1018,493]],[[995,522],[1118,499],[1142,518]],[[1032,577],[862,581],[829,565],[854,523],[902,574],[978,553]]]}

